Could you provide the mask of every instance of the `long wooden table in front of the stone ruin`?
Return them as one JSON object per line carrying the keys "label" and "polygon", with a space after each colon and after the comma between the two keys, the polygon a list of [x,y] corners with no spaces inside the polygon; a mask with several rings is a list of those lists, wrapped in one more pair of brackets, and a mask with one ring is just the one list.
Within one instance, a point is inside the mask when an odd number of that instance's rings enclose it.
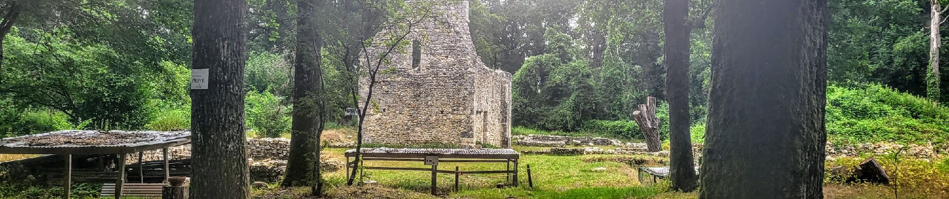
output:
{"label": "long wooden table in front of the stone ruin", "polygon": [[[371,170],[402,170],[402,171],[430,171],[432,173],[432,194],[436,194],[436,174],[455,174],[455,190],[458,190],[458,175],[460,174],[508,174],[508,183],[517,186],[517,168],[520,154],[513,149],[414,149],[414,148],[363,148],[363,161],[419,161],[432,168],[413,167],[366,167],[356,165],[356,149],[345,152],[346,175],[349,169]],[[352,161],[349,158],[353,158]],[[438,170],[438,162],[477,162],[477,163],[507,163],[507,169],[496,171],[455,171]],[[513,164],[513,165],[512,165]],[[512,168],[513,166],[513,168]]]}

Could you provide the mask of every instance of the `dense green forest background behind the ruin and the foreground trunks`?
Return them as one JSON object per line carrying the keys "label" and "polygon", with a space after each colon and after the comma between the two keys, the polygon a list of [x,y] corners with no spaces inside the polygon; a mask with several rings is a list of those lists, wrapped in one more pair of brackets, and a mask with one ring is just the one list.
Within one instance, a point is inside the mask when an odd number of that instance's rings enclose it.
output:
{"label": "dense green forest background behind the ruin and the foreground trunks", "polygon": [[[630,113],[647,96],[659,98],[667,121],[662,1],[469,2],[478,56],[513,75],[513,124],[636,139],[642,134]],[[289,131],[294,4],[248,1],[247,126],[265,137]],[[372,35],[352,27],[381,21],[355,4],[327,5],[323,17],[347,17],[318,25],[334,124],[351,123],[343,119],[352,107],[347,69],[358,48],[349,41]],[[192,8],[186,0],[0,3],[4,14],[18,14],[4,19],[0,134],[189,128]],[[693,128],[702,129],[715,5],[692,0],[690,8],[689,104]],[[949,133],[949,111],[934,103],[949,99],[949,90],[924,97],[929,1],[830,0],[828,11],[830,137],[919,142]]]}

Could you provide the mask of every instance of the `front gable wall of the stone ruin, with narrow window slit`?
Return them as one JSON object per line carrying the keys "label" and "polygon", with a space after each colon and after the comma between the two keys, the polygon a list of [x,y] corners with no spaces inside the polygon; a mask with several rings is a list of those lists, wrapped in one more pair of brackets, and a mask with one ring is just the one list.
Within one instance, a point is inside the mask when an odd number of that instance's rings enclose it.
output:
{"label": "front gable wall of the stone ruin, with narrow window slit", "polygon": [[[468,2],[437,3],[447,4],[435,8],[435,18],[414,25],[406,36],[409,44],[400,46],[389,55],[390,63],[381,67],[382,71],[394,70],[377,77],[379,81],[363,125],[363,141],[386,144],[474,143],[474,66],[480,59],[469,35]],[[399,33],[399,30],[384,30],[377,39],[383,40],[386,36],[391,39]],[[412,66],[413,40],[419,40],[421,45],[418,68]],[[385,46],[377,43],[367,52],[373,57],[385,50]],[[365,60],[361,62],[365,63]],[[364,98],[368,94],[368,78],[363,76],[360,83]]]}

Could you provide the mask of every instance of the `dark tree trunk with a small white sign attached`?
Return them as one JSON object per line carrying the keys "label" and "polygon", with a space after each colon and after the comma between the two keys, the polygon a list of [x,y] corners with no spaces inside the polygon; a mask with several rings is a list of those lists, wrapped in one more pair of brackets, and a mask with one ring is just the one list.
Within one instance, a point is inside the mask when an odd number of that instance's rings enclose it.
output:
{"label": "dark tree trunk with a small white sign attached", "polygon": [[207,90],[191,90],[191,198],[250,196],[244,132],[246,10],[244,0],[195,0],[192,67],[209,72]]}

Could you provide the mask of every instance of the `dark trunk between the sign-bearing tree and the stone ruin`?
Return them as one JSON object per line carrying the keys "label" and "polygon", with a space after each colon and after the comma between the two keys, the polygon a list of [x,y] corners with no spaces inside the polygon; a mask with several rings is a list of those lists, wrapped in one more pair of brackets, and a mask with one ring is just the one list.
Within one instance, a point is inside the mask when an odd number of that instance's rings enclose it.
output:
{"label": "dark trunk between the sign-bearing tree and the stone ruin", "polygon": [[311,165],[314,161],[312,153],[318,152],[317,140],[321,112],[319,99],[322,87],[322,70],[320,48],[322,38],[317,30],[316,1],[297,1],[297,37],[296,63],[293,70],[293,122],[290,126],[290,150],[287,161],[287,176],[283,186],[306,186],[307,179],[314,176]]}

